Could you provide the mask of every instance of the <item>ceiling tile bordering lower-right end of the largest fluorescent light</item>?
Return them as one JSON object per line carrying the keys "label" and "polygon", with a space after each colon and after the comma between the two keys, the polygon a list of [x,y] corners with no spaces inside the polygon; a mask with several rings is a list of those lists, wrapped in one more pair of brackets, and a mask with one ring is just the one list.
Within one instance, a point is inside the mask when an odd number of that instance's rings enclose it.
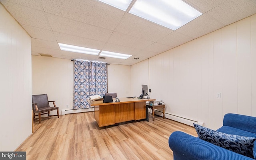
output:
{"label": "ceiling tile bordering lower-right end of the largest fluorescent light", "polygon": [[221,27],[224,27],[222,23],[215,20],[211,16],[208,16],[206,13],[196,18],[195,20],[190,21],[189,23],[180,27],[176,31],[189,37],[198,38],[212,31],[216,31]]}

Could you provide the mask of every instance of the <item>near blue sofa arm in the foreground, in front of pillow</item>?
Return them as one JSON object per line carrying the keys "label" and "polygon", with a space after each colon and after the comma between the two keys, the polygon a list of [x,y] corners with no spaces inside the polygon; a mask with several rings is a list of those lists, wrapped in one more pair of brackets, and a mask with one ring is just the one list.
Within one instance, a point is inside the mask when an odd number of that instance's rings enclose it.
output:
{"label": "near blue sofa arm in the foreground, in front of pillow", "polygon": [[174,160],[253,160],[181,131],[169,137]]}

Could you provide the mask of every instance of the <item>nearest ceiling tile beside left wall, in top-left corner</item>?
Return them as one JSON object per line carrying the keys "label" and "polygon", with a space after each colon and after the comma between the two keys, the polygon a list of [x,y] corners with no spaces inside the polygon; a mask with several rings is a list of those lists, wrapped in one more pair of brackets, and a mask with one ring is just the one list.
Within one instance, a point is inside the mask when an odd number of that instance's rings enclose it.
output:
{"label": "nearest ceiling tile beside left wall, in top-left corner", "polygon": [[50,30],[43,11],[35,10],[8,1],[1,1],[12,16],[20,23]]}

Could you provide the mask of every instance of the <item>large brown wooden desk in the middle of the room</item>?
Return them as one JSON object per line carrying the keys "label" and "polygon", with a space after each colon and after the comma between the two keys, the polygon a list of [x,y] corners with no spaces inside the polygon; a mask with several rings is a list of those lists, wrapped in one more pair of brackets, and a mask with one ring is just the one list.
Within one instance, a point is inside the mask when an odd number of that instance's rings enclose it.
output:
{"label": "large brown wooden desk in the middle of the room", "polygon": [[94,118],[99,127],[114,125],[120,122],[146,119],[146,101],[154,99],[119,98],[120,102],[98,103],[94,106]]}

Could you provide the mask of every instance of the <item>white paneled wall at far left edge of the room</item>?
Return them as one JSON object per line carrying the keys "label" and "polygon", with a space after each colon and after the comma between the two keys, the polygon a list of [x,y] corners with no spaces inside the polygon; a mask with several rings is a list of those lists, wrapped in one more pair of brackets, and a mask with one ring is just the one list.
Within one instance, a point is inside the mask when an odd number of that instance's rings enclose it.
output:
{"label": "white paneled wall at far left edge of the room", "polygon": [[32,133],[31,39],[0,4],[0,151]]}

